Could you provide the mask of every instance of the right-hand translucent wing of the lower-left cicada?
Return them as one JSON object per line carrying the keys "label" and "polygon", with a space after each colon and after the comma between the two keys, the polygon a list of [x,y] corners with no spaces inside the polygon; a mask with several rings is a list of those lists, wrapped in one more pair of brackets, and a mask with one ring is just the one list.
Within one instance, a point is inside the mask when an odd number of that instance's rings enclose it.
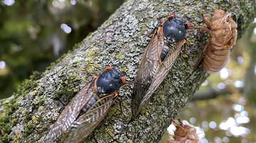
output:
{"label": "right-hand translucent wing of the lower-left cicada", "polygon": [[92,109],[90,109],[88,113],[81,115],[78,120],[73,122],[62,142],[77,143],[84,141],[85,138],[95,130],[105,115],[107,115],[107,111],[110,110],[110,107],[116,99],[117,93],[100,98],[100,100],[95,103],[97,108],[93,105]]}

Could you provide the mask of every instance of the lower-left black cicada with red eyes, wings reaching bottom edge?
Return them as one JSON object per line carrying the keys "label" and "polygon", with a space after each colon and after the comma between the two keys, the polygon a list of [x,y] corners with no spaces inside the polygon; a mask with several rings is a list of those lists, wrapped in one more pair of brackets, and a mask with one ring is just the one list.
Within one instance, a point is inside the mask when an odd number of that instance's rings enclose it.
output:
{"label": "lower-left black cicada with red eyes, wings reaching bottom edge", "polygon": [[68,103],[43,142],[51,143],[60,135],[62,142],[82,142],[105,117],[124,83],[119,70],[106,67]]}

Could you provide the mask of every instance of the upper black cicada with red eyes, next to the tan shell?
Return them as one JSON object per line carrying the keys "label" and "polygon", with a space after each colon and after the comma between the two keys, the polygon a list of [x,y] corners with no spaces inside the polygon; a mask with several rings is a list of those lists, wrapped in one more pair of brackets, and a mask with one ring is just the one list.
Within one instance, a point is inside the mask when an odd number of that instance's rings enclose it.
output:
{"label": "upper black cicada with red eyes, next to the tan shell", "polygon": [[132,93],[132,115],[139,114],[146,101],[164,80],[186,42],[189,24],[173,14],[153,32],[139,64]]}

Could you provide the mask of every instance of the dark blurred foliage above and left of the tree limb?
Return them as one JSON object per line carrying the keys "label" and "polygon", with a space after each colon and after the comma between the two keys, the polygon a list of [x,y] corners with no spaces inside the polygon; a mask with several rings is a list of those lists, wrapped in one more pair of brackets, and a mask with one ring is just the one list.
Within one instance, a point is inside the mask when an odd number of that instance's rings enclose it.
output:
{"label": "dark blurred foliage above and left of the tree limb", "polygon": [[[0,2],[0,62],[6,64],[0,69],[0,99],[97,30],[123,0],[9,3]],[[71,32],[65,33],[62,24]]]}

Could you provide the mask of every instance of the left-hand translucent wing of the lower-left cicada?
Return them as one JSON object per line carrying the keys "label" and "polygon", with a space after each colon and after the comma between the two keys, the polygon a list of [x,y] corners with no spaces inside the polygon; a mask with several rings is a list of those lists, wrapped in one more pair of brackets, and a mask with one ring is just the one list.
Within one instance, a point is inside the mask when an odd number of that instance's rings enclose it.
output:
{"label": "left-hand translucent wing of the lower-left cicada", "polygon": [[66,132],[70,125],[73,124],[78,117],[82,107],[90,101],[90,98],[95,94],[95,81],[97,77],[85,85],[75,97],[68,103],[62,113],[60,113],[58,120],[51,128],[48,135],[43,139],[43,143],[51,143],[55,141],[63,132]]}

